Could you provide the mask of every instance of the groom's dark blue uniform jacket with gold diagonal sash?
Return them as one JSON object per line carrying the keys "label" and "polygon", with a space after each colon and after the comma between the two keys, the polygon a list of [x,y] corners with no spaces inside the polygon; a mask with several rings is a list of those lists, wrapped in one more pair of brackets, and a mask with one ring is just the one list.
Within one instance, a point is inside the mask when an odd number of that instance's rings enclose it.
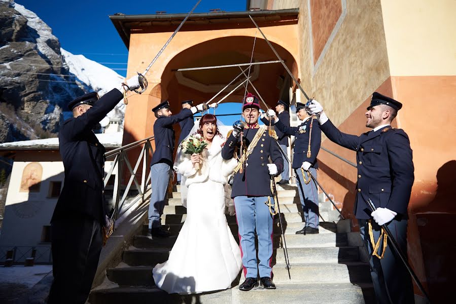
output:
{"label": "groom's dark blue uniform jacket with gold diagonal sash", "polygon": [[[247,146],[255,137],[257,131],[258,129],[244,129],[243,137]],[[236,146],[237,153],[239,153],[240,137],[236,138],[231,134],[222,148],[222,158],[225,160],[232,159]],[[275,139],[270,137],[268,131],[265,130],[247,161],[245,161],[243,172],[237,172],[234,175],[231,198],[272,195],[269,169],[266,166],[269,164],[269,158],[277,166],[277,174],[280,174],[284,170],[284,159],[282,154],[280,154],[279,146]]]}

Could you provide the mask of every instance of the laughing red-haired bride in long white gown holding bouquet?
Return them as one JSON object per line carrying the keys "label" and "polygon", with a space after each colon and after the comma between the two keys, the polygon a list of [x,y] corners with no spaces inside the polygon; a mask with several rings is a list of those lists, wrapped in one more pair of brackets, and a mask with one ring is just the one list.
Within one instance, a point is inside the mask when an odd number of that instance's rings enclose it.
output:
{"label": "laughing red-haired bride in long white gown holding bouquet", "polygon": [[190,134],[202,136],[207,147],[201,155],[179,149],[174,163],[174,170],[186,177],[187,219],[168,260],[153,270],[155,285],[168,293],[227,289],[242,267],[239,246],[225,217],[224,185],[237,161],[222,159],[225,139],[214,115],[204,115],[196,132]]}

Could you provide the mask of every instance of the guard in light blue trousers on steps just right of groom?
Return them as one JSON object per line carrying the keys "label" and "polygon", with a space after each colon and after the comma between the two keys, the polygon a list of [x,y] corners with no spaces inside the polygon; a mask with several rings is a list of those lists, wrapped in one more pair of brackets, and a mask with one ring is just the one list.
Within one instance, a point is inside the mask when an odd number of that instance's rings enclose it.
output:
{"label": "guard in light blue trousers on steps just right of groom", "polygon": [[301,121],[298,127],[290,127],[289,119],[286,125],[286,122],[279,117],[275,117],[274,123],[277,131],[295,136],[292,167],[296,173],[299,199],[305,220],[305,226],[296,234],[317,234],[320,225],[317,184],[308,172],[317,178],[317,155],[322,142],[322,131],[318,120],[312,121],[311,116],[307,116],[303,103],[296,103],[296,115]]}

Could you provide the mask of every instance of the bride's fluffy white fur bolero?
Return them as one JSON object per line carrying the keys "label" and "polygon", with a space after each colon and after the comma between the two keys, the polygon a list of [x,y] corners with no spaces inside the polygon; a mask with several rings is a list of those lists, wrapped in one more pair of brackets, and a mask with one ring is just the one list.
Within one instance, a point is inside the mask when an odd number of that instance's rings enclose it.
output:
{"label": "bride's fluffy white fur bolero", "polygon": [[192,183],[203,182],[207,178],[224,185],[226,184],[227,177],[237,165],[237,160],[234,158],[224,160],[222,158],[221,152],[224,142],[225,138],[221,135],[214,136],[211,147],[204,149],[201,153],[203,163],[200,164],[198,171],[193,167],[190,160],[191,154],[184,154],[184,151],[180,148],[178,149],[178,155],[173,168],[187,178],[185,181],[187,187]]}

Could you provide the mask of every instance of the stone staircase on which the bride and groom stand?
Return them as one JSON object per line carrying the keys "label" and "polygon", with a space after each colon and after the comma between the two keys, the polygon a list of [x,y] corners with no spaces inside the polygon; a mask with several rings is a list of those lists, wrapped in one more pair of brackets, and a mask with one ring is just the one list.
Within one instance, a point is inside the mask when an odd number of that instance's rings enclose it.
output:
{"label": "stone staircase on which the bride and groom stand", "polygon": [[[117,267],[107,271],[102,285],[93,289],[89,302],[100,303],[374,303],[375,296],[359,233],[351,232],[349,220],[337,220],[338,212],[320,197],[320,234],[296,235],[304,223],[296,185],[277,186],[280,216],[284,225],[291,264],[291,280],[286,269],[280,225],[274,220],[273,281],[277,289],[240,291],[243,273],[233,288],[196,295],[168,295],[158,289],[152,278],[157,263],[167,260],[169,251],[186,218],[181,205],[180,188],[174,187],[162,216],[162,224],[172,236],[167,239],[143,235],[134,237],[133,244],[122,255]],[[276,216],[277,217],[277,216]],[[231,231],[238,241],[234,216],[227,216]]]}

